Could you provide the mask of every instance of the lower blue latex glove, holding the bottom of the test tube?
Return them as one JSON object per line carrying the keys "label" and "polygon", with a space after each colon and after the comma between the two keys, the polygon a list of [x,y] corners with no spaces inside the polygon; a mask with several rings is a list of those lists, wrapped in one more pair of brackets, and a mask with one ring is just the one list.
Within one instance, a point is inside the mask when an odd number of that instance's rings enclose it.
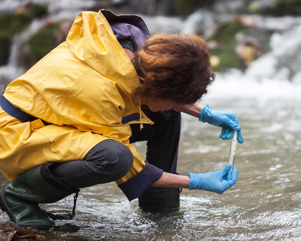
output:
{"label": "lower blue latex glove, holding the bottom of the test tube", "polygon": [[230,169],[231,164],[227,164],[219,171],[207,173],[188,172],[190,176],[189,190],[199,189],[223,194],[227,189],[233,186],[237,180],[238,172],[235,167],[231,171],[231,178],[226,178]]}

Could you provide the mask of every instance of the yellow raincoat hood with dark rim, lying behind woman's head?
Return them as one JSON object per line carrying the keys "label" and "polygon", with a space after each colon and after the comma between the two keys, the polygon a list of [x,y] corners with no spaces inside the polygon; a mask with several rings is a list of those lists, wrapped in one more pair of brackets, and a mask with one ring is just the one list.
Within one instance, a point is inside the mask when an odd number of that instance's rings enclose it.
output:
{"label": "yellow raincoat hood with dark rim, lying behind woman's head", "polygon": [[[136,15],[115,15],[102,9],[99,12],[81,12],[67,36],[72,54],[104,77],[116,80],[128,93],[140,84],[135,69],[114,35],[109,21],[131,23],[148,38],[143,20]],[[128,81],[131,82],[129,85]]]}

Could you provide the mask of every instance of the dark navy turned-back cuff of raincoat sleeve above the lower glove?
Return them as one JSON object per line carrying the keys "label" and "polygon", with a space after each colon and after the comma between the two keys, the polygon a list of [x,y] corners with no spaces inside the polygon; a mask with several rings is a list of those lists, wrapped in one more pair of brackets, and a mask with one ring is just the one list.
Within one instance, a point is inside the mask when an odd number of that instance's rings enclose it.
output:
{"label": "dark navy turned-back cuff of raincoat sleeve above the lower glove", "polygon": [[118,186],[129,201],[141,196],[163,174],[162,169],[149,164],[147,161],[145,163],[146,165],[138,174]]}

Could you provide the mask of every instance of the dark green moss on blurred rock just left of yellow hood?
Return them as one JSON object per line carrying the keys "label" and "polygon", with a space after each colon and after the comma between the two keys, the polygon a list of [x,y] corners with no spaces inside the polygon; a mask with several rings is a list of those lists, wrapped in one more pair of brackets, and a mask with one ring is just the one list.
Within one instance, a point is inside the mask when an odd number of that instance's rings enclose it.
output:
{"label": "dark green moss on blurred rock just left of yellow hood", "polygon": [[52,49],[63,42],[66,36],[57,38],[60,34],[61,23],[54,23],[43,27],[28,40],[34,62],[39,61],[47,55]]}

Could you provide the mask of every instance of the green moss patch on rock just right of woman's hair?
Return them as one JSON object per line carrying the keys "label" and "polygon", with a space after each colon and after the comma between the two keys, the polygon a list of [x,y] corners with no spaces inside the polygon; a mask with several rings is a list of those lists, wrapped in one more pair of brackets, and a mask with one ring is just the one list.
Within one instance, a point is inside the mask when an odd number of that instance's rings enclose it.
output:
{"label": "green moss patch on rock just right of woman's hair", "polygon": [[229,68],[244,69],[244,61],[237,56],[235,48],[238,42],[235,34],[244,32],[246,27],[238,21],[231,21],[222,25],[216,33],[208,39],[218,43],[218,48],[210,50],[210,55],[216,55],[220,59],[220,63],[215,67],[216,71],[225,71]]}

